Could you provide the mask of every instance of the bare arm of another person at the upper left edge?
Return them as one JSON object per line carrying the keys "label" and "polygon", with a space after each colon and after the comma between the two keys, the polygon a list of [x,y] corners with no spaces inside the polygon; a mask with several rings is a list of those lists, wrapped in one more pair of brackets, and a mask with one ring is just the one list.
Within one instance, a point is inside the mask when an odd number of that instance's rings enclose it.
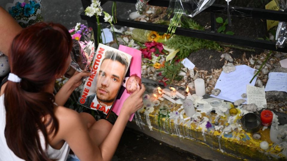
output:
{"label": "bare arm of another person at the upper left edge", "polygon": [[2,7],[0,7],[0,22],[0,51],[9,56],[12,41],[22,27]]}

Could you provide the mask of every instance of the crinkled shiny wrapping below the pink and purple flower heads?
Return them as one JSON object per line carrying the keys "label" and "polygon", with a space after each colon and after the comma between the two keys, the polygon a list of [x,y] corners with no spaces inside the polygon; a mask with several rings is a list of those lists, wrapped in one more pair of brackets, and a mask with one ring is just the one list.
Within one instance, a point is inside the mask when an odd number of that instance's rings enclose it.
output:
{"label": "crinkled shiny wrapping below the pink and purple flower heads", "polygon": [[87,35],[82,35],[80,41],[73,39],[71,51],[71,67],[78,72],[89,72],[95,53],[94,32],[90,28]]}

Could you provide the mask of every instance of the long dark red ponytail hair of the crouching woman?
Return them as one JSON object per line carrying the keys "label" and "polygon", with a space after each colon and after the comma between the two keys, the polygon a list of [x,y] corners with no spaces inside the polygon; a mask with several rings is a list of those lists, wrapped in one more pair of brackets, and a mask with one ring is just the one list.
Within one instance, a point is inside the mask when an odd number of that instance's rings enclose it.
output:
{"label": "long dark red ponytail hair of the crouching woman", "polygon": [[[24,160],[50,160],[41,146],[39,132],[48,146],[48,135],[57,134],[54,95],[44,92],[63,72],[71,52],[68,30],[53,23],[37,23],[22,30],[13,40],[9,63],[21,82],[7,82],[5,137],[8,147]],[[49,117],[45,117],[49,116]],[[49,118],[44,120],[43,118]],[[47,126],[51,129],[47,131]]]}

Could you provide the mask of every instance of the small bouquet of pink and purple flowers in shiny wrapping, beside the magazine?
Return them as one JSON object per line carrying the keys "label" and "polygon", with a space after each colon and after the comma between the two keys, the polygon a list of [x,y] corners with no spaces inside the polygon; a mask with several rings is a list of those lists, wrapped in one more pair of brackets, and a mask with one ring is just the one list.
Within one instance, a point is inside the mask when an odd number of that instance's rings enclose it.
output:
{"label": "small bouquet of pink and purple flowers in shiny wrapping, beside the magazine", "polygon": [[78,72],[88,72],[95,52],[94,32],[80,23],[69,32],[73,39],[71,67]]}

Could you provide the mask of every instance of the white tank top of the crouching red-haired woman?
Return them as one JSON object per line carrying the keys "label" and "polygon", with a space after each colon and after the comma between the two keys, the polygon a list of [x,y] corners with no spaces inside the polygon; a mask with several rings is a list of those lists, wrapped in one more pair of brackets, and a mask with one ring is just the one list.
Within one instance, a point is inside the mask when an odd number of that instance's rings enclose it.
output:
{"label": "white tank top of the crouching red-haired woman", "polygon": [[[4,94],[0,96],[0,161],[24,161],[17,157],[13,151],[10,150],[6,143],[6,138],[4,135],[4,129],[6,126],[6,110],[4,107]],[[48,149],[45,150],[45,139],[42,132],[39,132],[41,145],[46,155],[53,160],[66,161],[70,148],[67,142],[64,143],[60,150],[52,148],[48,144]]]}

